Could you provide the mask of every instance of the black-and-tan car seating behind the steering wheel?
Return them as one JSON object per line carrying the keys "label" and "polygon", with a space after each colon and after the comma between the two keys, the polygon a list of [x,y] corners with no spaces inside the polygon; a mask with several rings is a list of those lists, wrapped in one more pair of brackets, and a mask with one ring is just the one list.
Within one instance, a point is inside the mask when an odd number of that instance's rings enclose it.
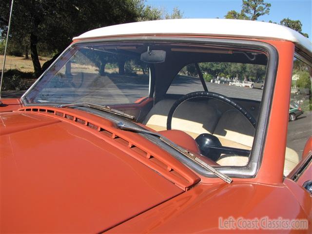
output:
{"label": "black-and-tan car seating behind the steering wheel", "polygon": [[[167,115],[174,102],[166,99],[156,103],[143,123],[156,131],[166,130]],[[202,133],[210,133],[218,137],[223,146],[250,150],[254,141],[252,124],[237,110],[226,110],[221,115],[215,110],[215,104],[213,101],[183,103],[174,114],[172,129],[181,130],[194,139]],[[298,162],[298,154],[287,148],[284,175],[287,176]],[[248,157],[225,155],[217,163],[221,166],[244,166]]]}

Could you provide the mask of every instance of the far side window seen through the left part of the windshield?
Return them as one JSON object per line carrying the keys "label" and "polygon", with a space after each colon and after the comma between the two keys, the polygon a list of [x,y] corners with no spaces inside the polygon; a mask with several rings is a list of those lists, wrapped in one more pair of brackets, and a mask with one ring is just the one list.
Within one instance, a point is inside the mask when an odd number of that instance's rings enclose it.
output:
{"label": "far side window seen through the left part of the windshield", "polygon": [[149,95],[149,66],[135,45],[73,46],[26,95],[29,103],[134,103]]}

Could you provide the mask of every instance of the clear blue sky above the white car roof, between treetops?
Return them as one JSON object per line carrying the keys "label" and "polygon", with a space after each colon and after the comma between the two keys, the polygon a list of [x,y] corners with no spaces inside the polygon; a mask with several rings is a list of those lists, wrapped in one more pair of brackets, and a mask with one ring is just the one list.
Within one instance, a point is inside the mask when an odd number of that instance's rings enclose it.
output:
{"label": "clear blue sky above the white car roof, between treetops", "polygon": [[[300,20],[302,32],[312,40],[312,0],[265,0],[271,3],[270,14],[260,16],[259,21],[279,23],[284,18]],[[242,0],[147,0],[147,5],[165,8],[168,13],[174,7],[183,12],[183,18],[224,18],[230,10],[240,12]]]}

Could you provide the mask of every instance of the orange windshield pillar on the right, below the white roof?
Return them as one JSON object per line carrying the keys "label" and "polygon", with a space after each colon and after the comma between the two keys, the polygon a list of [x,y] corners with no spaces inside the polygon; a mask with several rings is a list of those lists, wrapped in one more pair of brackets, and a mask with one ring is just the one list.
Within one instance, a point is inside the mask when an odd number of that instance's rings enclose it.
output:
{"label": "orange windshield pillar on the right, below the white roof", "polygon": [[288,126],[288,118],[285,116],[288,117],[289,102],[281,100],[290,100],[291,79],[285,79],[285,77],[292,76],[293,58],[289,55],[293,55],[294,45],[289,41],[268,42],[278,51],[278,67],[271,107],[274,111],[271,112],[257,178],[258,181],[264,183],[276,184],[283,181]]}

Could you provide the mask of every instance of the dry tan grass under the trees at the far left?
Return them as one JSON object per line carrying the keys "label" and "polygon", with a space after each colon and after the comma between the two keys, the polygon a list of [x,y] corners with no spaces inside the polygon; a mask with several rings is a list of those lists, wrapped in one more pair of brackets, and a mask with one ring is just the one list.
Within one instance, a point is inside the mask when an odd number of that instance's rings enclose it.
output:
{"label": "dry tan grass under the trees at the far left", "polygon": [[[39,57],[40,64],[42,66],[47,60],[51,58]],[[3,55],[0,55],[0,71],[2,71],[3,66]],[[24,59],[24,57],[6,56],[4,71],[9,69],[18,69],[22,72],[34,72],[34,66],[31,58]]]}

